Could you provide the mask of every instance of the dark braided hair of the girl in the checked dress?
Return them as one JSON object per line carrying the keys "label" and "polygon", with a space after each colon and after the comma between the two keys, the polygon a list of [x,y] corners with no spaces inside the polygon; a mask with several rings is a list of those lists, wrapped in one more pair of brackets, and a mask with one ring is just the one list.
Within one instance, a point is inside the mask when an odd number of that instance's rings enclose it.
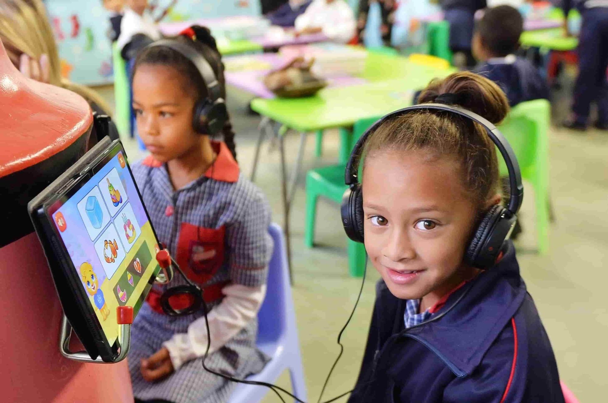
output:
{"label": "dark braided hair of the girl in the checked dress", "polygon": [[[174,38],[174,40],[192,47],[209,62],[209,65],[213,69],[213,74],[215,74],[215,77],[221,86],[221,97],[225,100],[226,78],[224,77],[224,63],[222,63],[215,38],[213,38],[211,31],[207,27],[192,26],[190,27],[190,30],[194,33],[193,38],[186,35],[179,35]],[[205,82],[196,66],[192,61],[188,60],[187,57],[174,51],[170,47],[154,46],[143,49],[135,60],[133,72],[131,73],[131,82],[133,82],[137,67],[140,65],[171,66],[179,71],[182,77],[187,80],[186,88],[188,91],[195,91],[194,95],[196,99],[202,99],[208,95]],[[234,142],[235,134],[230,119],[226,119],[226,123],[222,128],[222,135],[230,153],[237,159],[237,149]]]}

